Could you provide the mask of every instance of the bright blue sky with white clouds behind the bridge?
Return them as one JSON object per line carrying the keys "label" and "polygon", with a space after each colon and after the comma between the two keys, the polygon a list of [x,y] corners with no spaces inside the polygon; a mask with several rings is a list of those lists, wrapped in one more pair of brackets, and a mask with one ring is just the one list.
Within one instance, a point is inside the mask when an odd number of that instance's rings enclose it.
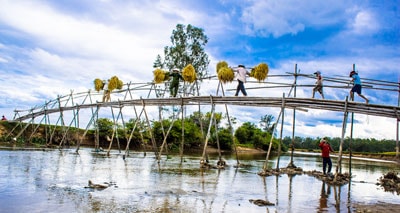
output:
{"label": "bright blue sky with white clouds behind the bridge", "polygon": [[[156,56],[171,46],[177,24],[204,29],[210,75],[223,60],[232,66],[267,63],[270,75],[292,73],[297,65],[302,74],[320,70],[326,78],[349,81],[355,64],[361,78],[398,82],[399,6],[399,0],[0,0],[0,114],[12,118],[15,109],[88,91],[95,78],[151,82]],[[294,79],[248,80],[249,96],[281,97],[290,88],[267,86]],[[298,83],[310,85],[314,79]],[[226,95],[235,87],[235,82],[224,85]],[[217,81],[204,81],[201,88],[202,95],[216,94]],[[310,98],[311,90],[298,88],[296,96]],[[324,92],[326,99],[345,100],[349,88]],[[396,91],[364,88],[363,94],[371,104],[398,105]],[[363,100],[356,96],[355,101]],[[255,124],[265,114],[279,114],[273,108],[229,110],[241,122]],[[292,134],[291,116],[287,110],[284,135]],[[343,113],[324,110],[297,111],[295,134],[340,137],[342,118]],[[395,139],[396,121],[355,115],[353,135]]]}

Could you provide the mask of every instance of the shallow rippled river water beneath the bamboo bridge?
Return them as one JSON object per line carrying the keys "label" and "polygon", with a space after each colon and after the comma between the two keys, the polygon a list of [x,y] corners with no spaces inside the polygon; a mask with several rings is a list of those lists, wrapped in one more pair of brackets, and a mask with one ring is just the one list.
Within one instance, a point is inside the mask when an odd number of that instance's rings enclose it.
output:
{"label": "shallow rippled river water beneath the bamboo bridge", "polygon": [[[134,152],[124,160],[114,150],[81,149],[0,151],[0,212],[352,212],[353,203],[396,203],[400,196],[385,192],[377,180],[398,165],[353,159],[351,184],[329,186],[308,175],[257,175],[265,155],[241,155],[245,167],[235,168],[234,156],[223,156],[229,167],[199,168],[200,156],[163,156]],[[211,156],[212,164],[217,157]],[[333,158],[333,171],[336,159]],[[280,158],[286,167],[290,157]],[[270,159],[272,168],[276,158]],[[319,155],[294,156],[305,171],[320,170]],[[348,171],[347,160],[342,172]],[[104,190],[85,188],[88,180],[105,183]],[[259,207],[249,199],[275,206]]]}

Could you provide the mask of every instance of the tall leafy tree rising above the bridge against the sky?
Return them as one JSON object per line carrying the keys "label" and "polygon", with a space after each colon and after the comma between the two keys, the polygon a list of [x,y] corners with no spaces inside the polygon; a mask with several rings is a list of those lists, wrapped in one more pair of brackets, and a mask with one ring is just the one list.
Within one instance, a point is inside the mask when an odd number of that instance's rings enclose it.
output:
{"label": "tall leafy tree rising above the bridge against the sky", "polygon": [[[164,67],[169,70],[173,68],[183,69],[192,64],[196,70],[197,77],[207,75],[210,63],[204,47],[208,42],[204,30],[192,25],[177,24],[172,31],[171,46],[164,47],[164,61],[158,55],[153,66]],[[160,66],[162,64],[162,66]]]}

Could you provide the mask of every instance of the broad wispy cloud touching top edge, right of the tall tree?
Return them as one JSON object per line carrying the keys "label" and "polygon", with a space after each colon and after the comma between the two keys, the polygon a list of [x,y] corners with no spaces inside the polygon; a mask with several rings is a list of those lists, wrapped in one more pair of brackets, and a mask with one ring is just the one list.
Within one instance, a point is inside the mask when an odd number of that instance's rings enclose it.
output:
{"label": "broad wispy cloud touching top edge, right of the tall tree", "polygon": [[344,5],[339,1],[250,1],[244,6],[241,21],[246,33],[268,37],[296,35],[307,27],[337,24],[343,19]]}

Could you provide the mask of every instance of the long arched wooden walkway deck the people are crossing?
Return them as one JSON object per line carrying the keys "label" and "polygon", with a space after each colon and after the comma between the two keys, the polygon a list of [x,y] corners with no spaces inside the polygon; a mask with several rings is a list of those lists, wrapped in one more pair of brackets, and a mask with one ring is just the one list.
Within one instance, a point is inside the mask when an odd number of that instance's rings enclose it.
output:
{"label": "long arched wooden walkway deck the people are crossing", "polygon": [[191,96],[181,98],[148,98],[112,101],[107,103],[97,102],[91,104],[57,107],[51,109],[32,110],[26,115],[16,118],[16,121],[24,121],[37,118],[45,114],[79,110],[97,107],[125,107],[125,106],[181,106],[181,105],[234,105],[245,107],[282,107],[282,102],[287,109],[320,109],[343,112],[347,104],[347,111],[358,114],[366,114],[380,117],[400,119],[400,107],[378,104],[365,104],[364,102],[337,101],[312,98],[278,98],[278,97],[234,97],[234,96]]}

